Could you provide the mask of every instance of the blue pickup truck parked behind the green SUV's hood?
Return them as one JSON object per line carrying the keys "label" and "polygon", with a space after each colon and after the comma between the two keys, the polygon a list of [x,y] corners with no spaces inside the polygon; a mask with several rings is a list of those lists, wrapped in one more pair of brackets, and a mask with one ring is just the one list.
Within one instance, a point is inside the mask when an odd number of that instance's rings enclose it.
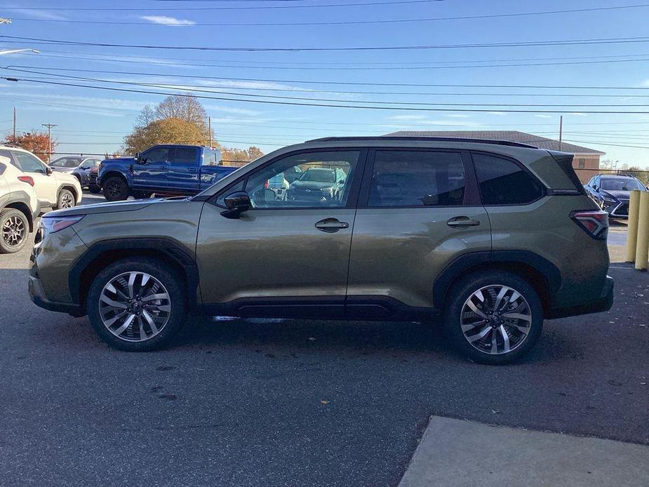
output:
{"label": "blue pickup truck parked behind the green SUV's hood", "polygon": [[151,194],[196,194],[236,168],[222,166],[218,149],[201,145],[154,145],[135,157],[102,161],[97,184],[107,201]]}

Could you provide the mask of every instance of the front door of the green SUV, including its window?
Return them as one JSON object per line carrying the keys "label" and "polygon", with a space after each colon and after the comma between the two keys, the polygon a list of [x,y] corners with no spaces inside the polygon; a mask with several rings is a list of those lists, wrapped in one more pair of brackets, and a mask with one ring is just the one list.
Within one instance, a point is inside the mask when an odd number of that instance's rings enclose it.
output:
{"label": "front door of the green SUV, including its window", "polygon": [[[206,203],[196,245],[203,303],[250,316],[341,317],[359,175],[366,151],[297,152],[255,168]],[[268,182],[285,171],[347,168],[340,200],[278,198]],[[227,194],[246,191],[253,208],[225,218]]]}

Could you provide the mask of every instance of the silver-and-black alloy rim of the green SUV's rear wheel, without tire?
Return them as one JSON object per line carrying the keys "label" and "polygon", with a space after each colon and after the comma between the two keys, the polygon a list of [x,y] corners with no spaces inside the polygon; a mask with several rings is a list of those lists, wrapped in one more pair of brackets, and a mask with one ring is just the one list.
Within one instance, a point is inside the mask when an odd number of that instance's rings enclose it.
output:
{"label": "silver-and-black alloy rim of the green SUV's rear wheel, without tire", "polygon": [[521,293],[492,284],[472,293],[462,306],[464,338],[485,354],[507,354],[520,347],[532,331],[532,311]]}

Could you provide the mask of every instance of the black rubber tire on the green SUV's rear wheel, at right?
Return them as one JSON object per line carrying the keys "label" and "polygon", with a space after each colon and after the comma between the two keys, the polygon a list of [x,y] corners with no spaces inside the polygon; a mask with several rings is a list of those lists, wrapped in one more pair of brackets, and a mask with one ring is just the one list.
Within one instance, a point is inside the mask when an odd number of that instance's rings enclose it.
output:
{"label": "black rubber tire on the green SUV's rear wheel, at right", "polygon": [[[462,308],[464,307],[464,303],[467,302],[469,297],[476,291],[483,290],[483,288],[493,285],[507,286],[520,293],[522,298],[526,300],[528,305],[527,308],[531,313],[531,321],[527,336],[523,340],[520,340],[518,345],[511,347],[511,351],[507,353],[499,352],[498,354],[490,354],[485,350],[479,349],[479,347],[481,346],[486,346],[485,343],[488,342],[490,337],[493,338],[493,335],[491,333],[497,334],[497,341],[500,340],[500,347],[504,347],[502,332],[500,332],[500,328],[498,329],[498,331],[488,331],[485,339],[486,342],[476,340],[476,346],[471,345],[469,338],[465,337],[464,332],[462,331]],[[488,293],[488,290],[486,290],[485,293]],[[455,285],[450,288],[450,290],[448,291],[448,296],[448,303],[444,311],[444,328],[446,335],[450,339],[453,347],[455,347],[458,352],[466,356],[468,359],[471,359],[472,361],[487,363],[490,365],[511,363],[517,361],[518,359],[521,359],[524,355],[526,355],[539,340],[543,327],[543,307],[541,305],[541,300],[533,286],[531,286],[528,281],[521,279],[521,277],[517,276],[516,274],[498,270],[482,271],[469,274],[468,276],[460,279],[460,281],[457,281],[457,283],[455,283]],[[486,300],[489,300],[488,296],[486,297]],[[509,298],[507,298],[507,301],[509,301]],[[486,306],[485,309],[488,308],[489,307]],[[497,318],[492,318],[492,315],[488,314],[487,312],[486,315],[488,316],[488,319],[484,320],[485,323],[491,323],[491,321],[488,321],[490,319],[502,319],[500,314],[497,316]],[[475,319],[479,319],[479,317],[476,315]],[[526,322],[527,321],[523,321],[523,323]],[[521,322],[519,321],[518,323]],[[481,328],[481,330],[478,329],[480,326],[483,327]],[[476,325],[476,328],[473,328],[473,330],[476,330],[478,332],[485,331],[486,328],[490,326],[497,326],[497,323],[494,323],[493,325],[484,323]],[[505,329],[507,331],[507,334],[509,335],[507,343],[507,346],[509,347],[509,340],[516,339],[518,334],[516,333],[516,330],[513,330],[513,328],[509,325],[507,325],[507,328]],[[511,331],[514,332],[513,335],[510,334]],[[478,334],[479,333],[471,334],[469,335],[469,337],[474,338]],[[499,345],[496,346],[496,351],[498,351]]]}

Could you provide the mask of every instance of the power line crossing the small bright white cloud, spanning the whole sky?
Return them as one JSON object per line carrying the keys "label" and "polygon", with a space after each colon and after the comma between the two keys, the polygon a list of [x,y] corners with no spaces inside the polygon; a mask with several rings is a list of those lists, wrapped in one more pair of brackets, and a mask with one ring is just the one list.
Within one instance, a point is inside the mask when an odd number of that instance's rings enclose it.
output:
{"label": "power line crossing the small bright white cloud, spanning the whole sky", "polygon": [[[424,17],[410,19],[387,19],[387,20],[342,20],[342,21],[316,21],[316,22],[193,22],[174,25],[174,27],[269,27],[269,26],[326,26],[326,25],[374,25],[374,24],[397,24],[397,23],[415,23],[415,22],[438,22],[442,20],[481,20],[490,18],[518,18],[533,15],[554,15],[566,13],[584,13],[595,11],[614,11],[629,8],[645,8],[649,4],[620,5],[610,7],[592,7],[592,8],[568,8],[564,10],[540,11],[540,12],[517,12],[517,13],[493,13],[487,15],[455,15],[450,17]],[[34,19],[34,18],[13,18],[22,22],[62,22],[72,24],[91,24],[91,25],[150,25],[157,27],[169,27],[168,25],[155,22],[131,22],[115,20],[64,20],[64,19]]]}

